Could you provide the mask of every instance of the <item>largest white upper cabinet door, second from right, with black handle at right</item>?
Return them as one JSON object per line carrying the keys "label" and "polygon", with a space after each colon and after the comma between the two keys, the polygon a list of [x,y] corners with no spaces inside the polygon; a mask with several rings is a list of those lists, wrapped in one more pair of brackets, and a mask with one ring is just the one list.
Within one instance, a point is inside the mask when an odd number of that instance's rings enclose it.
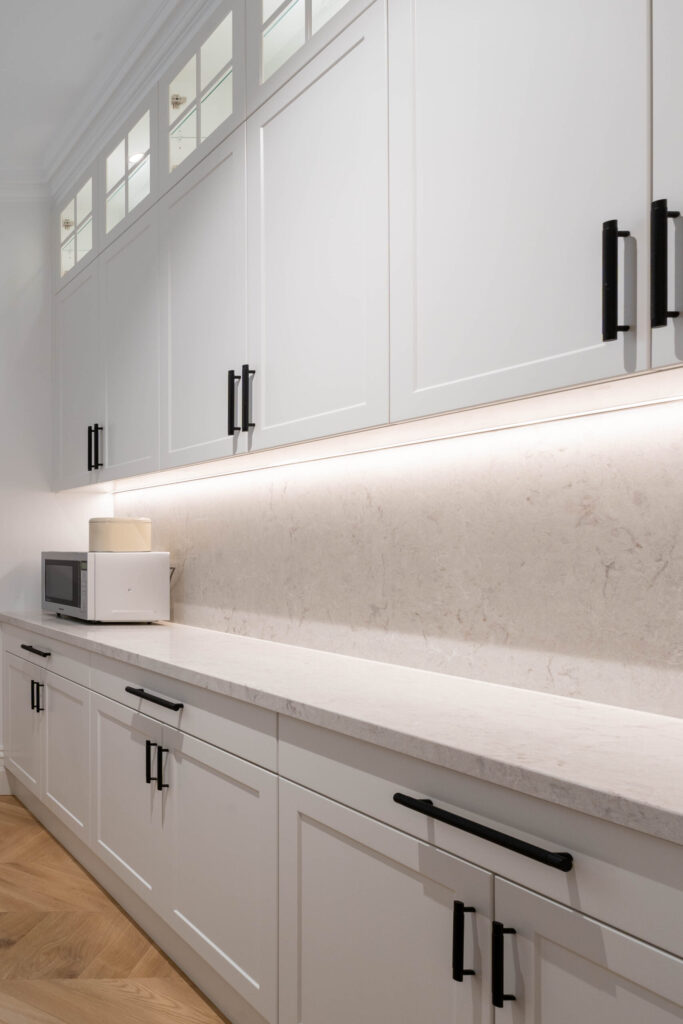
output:
{"label": "largest white upper cabinet door, second from right, with black handle at right", "polygon": [[389,0],[392,420],[645,368],[648,36],[648,0]]}

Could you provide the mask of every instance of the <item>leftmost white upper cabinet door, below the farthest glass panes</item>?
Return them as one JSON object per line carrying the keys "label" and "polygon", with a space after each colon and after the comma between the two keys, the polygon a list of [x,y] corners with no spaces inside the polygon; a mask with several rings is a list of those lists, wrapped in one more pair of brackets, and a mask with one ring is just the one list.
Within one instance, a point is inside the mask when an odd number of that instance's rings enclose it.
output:
{"label": "leftmost white upper cabinet door, below the farthest glass panes", "polygon": [[91,263],[54,297],[56,487],[97,479],[88,470],[88,427],[104,415],[98,269]]}

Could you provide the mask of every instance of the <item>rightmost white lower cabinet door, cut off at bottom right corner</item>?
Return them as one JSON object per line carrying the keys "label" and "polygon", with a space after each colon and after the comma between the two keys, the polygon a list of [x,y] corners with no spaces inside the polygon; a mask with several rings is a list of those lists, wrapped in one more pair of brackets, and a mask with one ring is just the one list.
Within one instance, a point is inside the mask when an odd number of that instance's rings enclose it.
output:
{"label": "rightmost white lower cabinet door, cut off at bottom right corner", "polygon": [[[683,961],[496,879],[496,1024],[680,1024]],[[514,996],[514,998],[510,998]]]}

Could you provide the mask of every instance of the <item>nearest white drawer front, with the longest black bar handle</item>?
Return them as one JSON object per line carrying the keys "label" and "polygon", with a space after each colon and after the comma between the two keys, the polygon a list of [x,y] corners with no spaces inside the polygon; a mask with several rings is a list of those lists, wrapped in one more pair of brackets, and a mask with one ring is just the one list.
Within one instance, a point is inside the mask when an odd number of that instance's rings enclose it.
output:
{"label": "nearest white drawer front, with the longest black bar handle", "polygon": [[[679,846],[393,751],[280,719],[280,773],[496,874],[683,955]],[[394,794],[451,811],[551,851],[568,872],[426,817]]]}

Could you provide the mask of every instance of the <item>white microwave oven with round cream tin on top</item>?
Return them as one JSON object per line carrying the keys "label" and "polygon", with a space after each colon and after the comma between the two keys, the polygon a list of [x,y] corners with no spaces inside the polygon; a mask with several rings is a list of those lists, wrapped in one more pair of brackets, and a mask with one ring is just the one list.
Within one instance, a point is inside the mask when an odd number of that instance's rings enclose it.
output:
{"label": "white microwave oven with round cream tin on top", "polygon": [[170,618],[168,551],[44,551],[42,607],[89,623]]}

